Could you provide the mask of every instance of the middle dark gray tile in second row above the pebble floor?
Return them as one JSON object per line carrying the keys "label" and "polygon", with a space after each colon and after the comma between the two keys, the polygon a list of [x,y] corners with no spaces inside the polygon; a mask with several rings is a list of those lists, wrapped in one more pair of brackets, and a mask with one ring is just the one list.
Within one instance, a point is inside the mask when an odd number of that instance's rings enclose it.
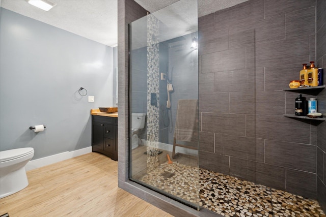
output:
{"label": "middle dark gray tile in second row above the pebble floor", "polygon": [[222,135],[224,154],[264,162],[264,140],[234,135]]}

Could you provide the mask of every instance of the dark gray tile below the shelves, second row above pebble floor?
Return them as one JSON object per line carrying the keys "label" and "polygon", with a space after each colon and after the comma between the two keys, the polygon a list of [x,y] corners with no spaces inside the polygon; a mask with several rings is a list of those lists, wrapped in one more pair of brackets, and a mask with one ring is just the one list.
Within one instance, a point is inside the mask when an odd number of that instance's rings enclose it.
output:
{"label": "dark gray tile below the shelves, second row above pebble floor", "polygon": [[316,147],[265,140],[265,163],[316,173]]}

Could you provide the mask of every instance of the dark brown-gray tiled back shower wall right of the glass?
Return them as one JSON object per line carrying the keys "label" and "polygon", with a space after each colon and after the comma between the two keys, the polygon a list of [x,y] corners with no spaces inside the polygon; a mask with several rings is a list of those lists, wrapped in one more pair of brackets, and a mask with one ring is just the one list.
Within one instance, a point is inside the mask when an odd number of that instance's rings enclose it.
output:
{"label": "dark brown-gray tiled back shower wall right of the glass", "polygon": [[294,114],[297,93],[282,91],[316,61],[316,1],[279,2],[251,0],[199,18],[199,162],[317,198],[316,122],[283,117]]}

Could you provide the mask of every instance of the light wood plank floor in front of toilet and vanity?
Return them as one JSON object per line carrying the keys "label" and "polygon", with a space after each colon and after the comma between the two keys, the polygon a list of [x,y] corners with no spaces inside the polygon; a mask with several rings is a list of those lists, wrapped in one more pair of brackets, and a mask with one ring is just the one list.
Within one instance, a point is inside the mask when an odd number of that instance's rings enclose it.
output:
{"label": "light wood plank floor in front of toilet and vanity", "polygon": [[0,199],[0,215],[172,216],[118,188],[118,162],[92,152],[27,172],[29,186]]}

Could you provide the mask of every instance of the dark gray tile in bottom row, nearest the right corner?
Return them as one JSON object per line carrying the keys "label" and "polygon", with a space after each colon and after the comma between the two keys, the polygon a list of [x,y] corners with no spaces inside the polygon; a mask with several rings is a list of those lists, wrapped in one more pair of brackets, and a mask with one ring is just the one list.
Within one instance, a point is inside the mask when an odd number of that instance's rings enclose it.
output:
{"label": "dark gray tile in bottom row, nearest the right corner", "polygon": [[286,191],[317,199],[316,173],[286,169]]}

